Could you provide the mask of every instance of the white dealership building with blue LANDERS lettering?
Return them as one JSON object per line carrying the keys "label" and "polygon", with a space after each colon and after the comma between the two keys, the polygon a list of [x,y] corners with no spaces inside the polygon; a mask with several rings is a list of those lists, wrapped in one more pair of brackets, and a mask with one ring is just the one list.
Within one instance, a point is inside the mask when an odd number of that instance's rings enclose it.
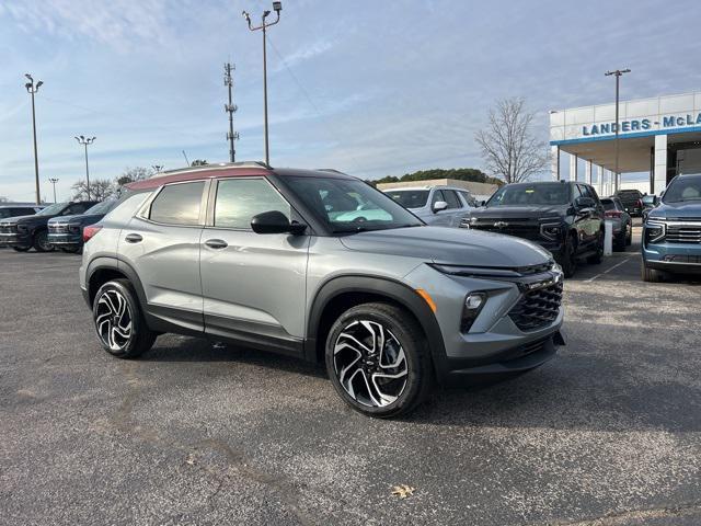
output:
{"label": "white dealership building with blue LANDERS lettering", "polygon": [[[627,173],[647,172],[645,191],[659,195],[675,175],[701,172],[701,92],[621,101],[619,126],[621,187]],[[613,193],[614,135],[614,103],[550,112],[553,178],[567,179],[568,164],[568,179]]]}

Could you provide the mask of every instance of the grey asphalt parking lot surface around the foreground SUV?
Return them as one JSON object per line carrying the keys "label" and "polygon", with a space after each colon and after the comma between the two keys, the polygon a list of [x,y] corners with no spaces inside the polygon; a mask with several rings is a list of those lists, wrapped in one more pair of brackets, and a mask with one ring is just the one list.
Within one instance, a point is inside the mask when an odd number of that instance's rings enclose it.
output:
{"label": "grey asphalt parking lot surface around the foreground SUV", "polygon": [[0,250],[0,524],[701,523],[701,285],[635,248],[566,282],[552,362],[400,421],[261,352],[108,356],[79,260]]}

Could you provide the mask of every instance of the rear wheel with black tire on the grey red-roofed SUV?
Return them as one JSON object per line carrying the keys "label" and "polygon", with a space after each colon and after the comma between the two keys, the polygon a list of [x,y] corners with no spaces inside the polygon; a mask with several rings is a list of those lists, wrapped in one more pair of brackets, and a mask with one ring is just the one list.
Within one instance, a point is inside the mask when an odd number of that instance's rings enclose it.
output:
{"label": "rear wheel with black tire on the grey red-roofed SUV", "polygon": [[[126,302],[124,309],[119,298]],[[92,304],[92,312],[97,339],[113,356],[136,358],[153,346],[157,334],[146,324],[139,300],[127,279],[114,279],[100,287]],[[124,318],[125,313],[128,320]],[[108,325],[105,327],[104,323]],[[115,324],[119,332],[111,332]],[[127,332],[128,338],[124,336]]]}

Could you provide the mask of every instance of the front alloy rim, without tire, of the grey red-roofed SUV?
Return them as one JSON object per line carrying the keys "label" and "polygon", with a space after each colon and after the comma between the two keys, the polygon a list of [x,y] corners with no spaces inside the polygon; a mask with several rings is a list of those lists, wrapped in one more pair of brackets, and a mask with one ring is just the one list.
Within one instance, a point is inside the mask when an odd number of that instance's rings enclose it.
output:
{"label": "front alloy rim, without tire, of the grey red-roofed SUV", "polygon": [[356,320],[338,334],[333,350],[338,382],[356,402],[383,408],[401,397],[409,365],[400,341],[381,323]]}

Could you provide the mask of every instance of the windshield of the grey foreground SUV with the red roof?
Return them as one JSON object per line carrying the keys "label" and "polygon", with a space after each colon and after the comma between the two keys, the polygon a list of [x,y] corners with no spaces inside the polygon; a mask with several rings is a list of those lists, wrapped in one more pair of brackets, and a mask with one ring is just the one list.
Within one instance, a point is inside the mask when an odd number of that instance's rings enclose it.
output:
{"label": "windshield of the grey foreground SUV with the red roof", "polygon": [[357,179],[288,176],[285,181],[334,233],[423,225],[382,192]]}

